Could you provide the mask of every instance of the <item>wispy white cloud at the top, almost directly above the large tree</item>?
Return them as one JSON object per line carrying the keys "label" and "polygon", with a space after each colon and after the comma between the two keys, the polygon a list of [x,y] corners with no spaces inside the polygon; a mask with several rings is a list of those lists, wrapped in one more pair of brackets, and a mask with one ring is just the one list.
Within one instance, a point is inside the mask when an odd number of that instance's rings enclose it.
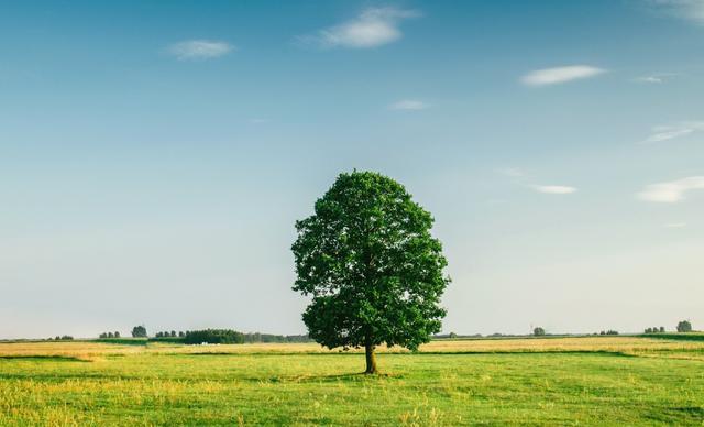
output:
{"label": "wispy white cloud at the top, almost directly above the large tree", "polygon": [[351,21],[298,40],[320,47],[376,47],[399,40],[403,36],[398,28],[400,22],[419,15],[420,13],[414,10],[370,8]]}

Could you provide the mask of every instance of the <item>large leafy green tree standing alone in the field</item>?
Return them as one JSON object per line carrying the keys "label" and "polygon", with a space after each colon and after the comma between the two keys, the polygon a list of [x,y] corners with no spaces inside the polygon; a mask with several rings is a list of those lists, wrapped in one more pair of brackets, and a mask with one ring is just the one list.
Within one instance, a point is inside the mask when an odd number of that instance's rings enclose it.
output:
{"label": "large leafy green tree standing alone in the field", "polygon": [[312,297],[310,338],[330,349],[364,347],[376,372],[382,343],[417,350],[440,331],[438,304],[450,278],[432,216],[403,185],[371,172],[341,174],[296,222],[294,291]]}

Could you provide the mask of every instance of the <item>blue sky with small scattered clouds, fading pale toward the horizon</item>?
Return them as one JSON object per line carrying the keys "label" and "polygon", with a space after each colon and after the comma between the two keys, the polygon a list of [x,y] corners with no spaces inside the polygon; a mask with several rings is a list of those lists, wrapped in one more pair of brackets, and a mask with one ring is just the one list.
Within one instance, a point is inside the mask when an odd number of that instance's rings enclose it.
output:
{"label": "blue sky with small scattered clouds, fading pale toward the horizon", "polygon": [[294,223],[375,171],[443,331],[704,328],[704,1],[0,6],[0,338],[304,333]]}

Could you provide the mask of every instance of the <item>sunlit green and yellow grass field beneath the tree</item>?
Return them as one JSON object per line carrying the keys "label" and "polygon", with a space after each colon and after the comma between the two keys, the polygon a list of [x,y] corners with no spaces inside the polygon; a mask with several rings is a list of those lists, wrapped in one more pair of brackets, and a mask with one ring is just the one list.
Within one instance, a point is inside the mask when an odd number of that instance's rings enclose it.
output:
{"label": "sunlit green and yellow grass field beneath the tree", "polygon": [[0,343],[2,425],[704,425],[704,340]]}

